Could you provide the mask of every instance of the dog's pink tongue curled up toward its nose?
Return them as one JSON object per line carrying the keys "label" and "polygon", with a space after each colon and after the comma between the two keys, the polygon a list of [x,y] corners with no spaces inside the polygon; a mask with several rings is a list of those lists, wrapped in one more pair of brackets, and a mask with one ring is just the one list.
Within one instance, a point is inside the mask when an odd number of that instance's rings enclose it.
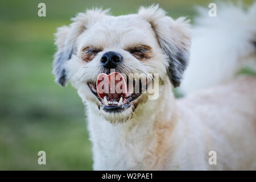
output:
{"label": "dog's pink tongue curled up toward its nose", "polygon": [[118,100],[122,95],[127,96],[125,78],[120,73],[113,72],[109,75],[101,73],[97,78],[97,93],[100,98]]}

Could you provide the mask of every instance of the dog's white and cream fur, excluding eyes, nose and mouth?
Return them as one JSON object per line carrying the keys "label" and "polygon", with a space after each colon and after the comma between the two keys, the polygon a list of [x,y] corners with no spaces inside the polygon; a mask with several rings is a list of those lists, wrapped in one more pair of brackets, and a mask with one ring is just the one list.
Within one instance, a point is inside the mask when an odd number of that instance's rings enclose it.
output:
{"label": "dog's white and cream fur, excluding eyes, nose and mouth", "polygon": [[[116,17],[101,10],[89,12],[90,15],[79,14],[80,18],[74,19],[68,34],[67,27],[61,29],[63,32],[57,34],[57,44],[67,44],[68,41],[74,43],[75,52],[71,60],[65,61],[64,68],[68,81],[78,90],[86,104],[88,130],[93,143],[93,169],[256,169],[255,77],[240,78],[175,100],[167,76],[167,55],[161,48],[171,45],[167,51],[176,53],[181,50],[186,53],[190,46],[188,23],[183,18],[171,19],[157,6],[142,8],[138,14]],[[219,11],[218,15],[221,16]],[[224,27],[230,27],[229,30],[234,31],[234,34],[225,36],[223,25],[218,24],[215,29],[216,24],[212,22],[201,32],[202,37],[211,40],[210,45],[213,46],[206,46],[208,42],[203,38],[193,39],[193,44],[201,47],[202,55],[193,53],[196,48],[192,48],[192,59],[198,56],[199,61],[201,58],[204,60],[195,65],[201,68],[201,64],[212,64],[210,60],[214,59],[217,65],[211,67],[213,70],[218,66],[225,67],[212,73],[217,75],[215,78],[203,71],[196,75],[201,80],[204,77],[209,85],[220,82],[218,77],[223,77],[226,67],[230,67],[230,72],[233,72],[238,57],[242,59],[242,56],[253,51],[246,42],[252,38],[247,33],[248,24],[243,22],[247,19],[241,10],[234,11],[232,17],[241,18],[236,25],[241,30],[228,26],[230,21]],[[249,30],[254,31],[255,22],[251,23],[254,24]],[[74,26],[77,27],[72,30]],[[215,42],[217,31],[220,37],[217,36],[219,41]],[[170,37],[166,38],[168,34]],[[234,35],[239,35],[239,39]],[[162,40],[158,41],[159,38]],[[161,43],[163,40],[166,42]],[[150,46],[152,57],[145,61],[135,59],[125,51],[131,44]],[[59,51],[63,46],[58,46]],[[86,46],[101,47],[103,51],[86,63],[81,59],[81,50]],[[237,54],[230,55],[230,48],[234,48]],[[96,81],[101,71],[100,57],[110,50],[123,56],[122,68],[125,73],[159,73],[163,84],[159,87],[157,100],[147,100],[147,95],[143,94],[134,111],[130,108],[122,113],[104,113],[86,82]],[[232,76],[230,72],[227,77]],[[200,86],[195,80],[191,84],[187,90]],[[207,86],[203,81],[201,84]],[[217,165],[208,163],[208,152],[212,150],[217,152]]]}

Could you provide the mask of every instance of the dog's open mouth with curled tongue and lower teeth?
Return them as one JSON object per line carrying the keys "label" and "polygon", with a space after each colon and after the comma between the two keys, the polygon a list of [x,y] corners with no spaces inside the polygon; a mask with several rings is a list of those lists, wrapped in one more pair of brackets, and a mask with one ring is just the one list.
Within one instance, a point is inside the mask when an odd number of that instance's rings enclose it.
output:
{"label": "dog's open mouth with curled tongue and lower teeth", "polygon": [[[144,82],[144,83],[143,83]],[[88,82],[92,93],[101,102],[106,112],[121,112],[135,102],[147,89],[147,80],[125,80],[120,73],[101,73],[97,82]]]}

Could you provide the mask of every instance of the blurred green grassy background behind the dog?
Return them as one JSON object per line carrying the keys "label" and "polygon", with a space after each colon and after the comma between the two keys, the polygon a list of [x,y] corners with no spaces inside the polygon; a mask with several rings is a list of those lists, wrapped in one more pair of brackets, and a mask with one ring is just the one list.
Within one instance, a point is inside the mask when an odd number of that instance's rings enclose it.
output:
{"label": "blurred green grassy background behind the dog", "polygon": [[[40,2],[46,3],[46,17],[38,16]],[[173,18],[187,16],[193,23],[195,6],[208,7],[210,2],[1,0],[0,170],[92,169],[86,108],[76,90],[55,84],[51,73],[57,27],[88,8],[111,8],[113,15],[121,15],[152,3]],[[46,151],[46,165],[38,164],[41,150]]]}

